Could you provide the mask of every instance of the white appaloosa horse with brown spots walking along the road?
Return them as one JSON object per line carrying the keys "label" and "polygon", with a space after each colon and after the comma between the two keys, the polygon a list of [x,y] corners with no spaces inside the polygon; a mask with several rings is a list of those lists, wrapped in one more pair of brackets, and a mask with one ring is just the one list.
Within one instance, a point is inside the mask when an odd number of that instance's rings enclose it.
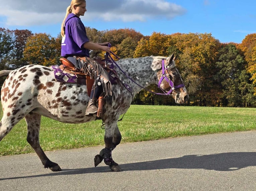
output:
{"label": "white appaloosa horse with brown spots walking along the road", "polygon": [[[158,84],[168,92],[176,103],[188,100],[187,91],[175,67],[175,58],[144,57],[121,59],[116,69],[120,83],[112,85],[112,102],[106,102],[103,114],[105,123],[105,148],[95,156],[95,166],[102,160],[113,171],[121,171],[112,159],[112,150],[120,143],[121,133],[117,122],[119,116],[129,108],[132,99],[142,88]],[[163,68],[163,70],[161,70]],[[124,73],[123,73],[124,72]],[[39,143],[41,116],[65,123],[84,123],[95,120],[95,116],[85,116],[89,96],[86,85],[55,81],[52,68],[28,65],[13,71],[1,71],[0,77],[7,76],[2,90],[3,117],[0,122],[0,141],[23,117],[27,123],[27,141],[40,158],[44,168],[60,171],[57,163],[50,161]],[[127,77],[130,77],[128,79]],[[137,86],[140,85],[140,86]],[[174,86],[175,85],[175,86]],[[132,92],[129,88],[132,87]]]}

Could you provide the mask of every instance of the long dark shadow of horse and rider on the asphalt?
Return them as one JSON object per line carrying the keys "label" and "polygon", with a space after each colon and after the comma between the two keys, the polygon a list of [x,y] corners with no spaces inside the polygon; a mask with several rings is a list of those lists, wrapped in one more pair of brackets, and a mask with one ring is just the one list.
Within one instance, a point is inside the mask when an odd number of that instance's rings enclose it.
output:
{"label": "long dark shadow of horse and rider on the asphalt", "polygon": [[[256,166],[256,152],[228,152],[210,155],[185,155],[178,158],[167,158],[153,161],[136,162],[121,164],[120,167],[124,171],[137,171],[137,170],[157,170],[157,169],[206,169],[216,171],[234,171],[249,166]],[[60,172],[0,178],[0,180],[31,178],[31,177],[44,177],[56,175],[75,175],[75,174],[88,174],[99,172],[112,172],[108,166],[80,168],[80,169],[62,169]]]}

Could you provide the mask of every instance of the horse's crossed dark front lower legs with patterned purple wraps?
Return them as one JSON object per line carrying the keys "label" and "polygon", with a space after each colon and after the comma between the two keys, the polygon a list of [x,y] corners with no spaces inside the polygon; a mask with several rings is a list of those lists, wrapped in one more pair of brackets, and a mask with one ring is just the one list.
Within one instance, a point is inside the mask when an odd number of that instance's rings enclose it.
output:
{"label": "horse's crossed dark front lower legs with patterned purple wraps", "polygon": [[109,126],[105,128],[105,148],[100,151],[100,154],[97,154],[94,158],[94,164],[97,166],[102,162],[110,167],[112,171],[118,172],[122,171],[119,165],[112,159],[112,151],[116,148],[116,146],[121,142],[121,133],[116,124],[115,128],[113,126]]}

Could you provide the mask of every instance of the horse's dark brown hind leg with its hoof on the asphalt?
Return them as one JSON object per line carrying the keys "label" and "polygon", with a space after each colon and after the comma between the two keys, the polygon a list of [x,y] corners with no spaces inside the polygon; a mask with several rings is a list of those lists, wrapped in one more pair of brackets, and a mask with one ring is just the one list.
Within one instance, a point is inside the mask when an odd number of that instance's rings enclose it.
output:
{"label": "horse's dark brown hind leg with its hoof on the asphalt", "polygon": [[41,115],[37,113],[27,114],[25,116],[25,120],[27,122],[27,142],[34,149],[41,162],[44,165],[44,168],[50,168],[52,171],[61,171],[59,165],[55,162],[51,162],[45,153],[43,152],[40,143],[39,143],[39,130],[40,130],[40,122]]}

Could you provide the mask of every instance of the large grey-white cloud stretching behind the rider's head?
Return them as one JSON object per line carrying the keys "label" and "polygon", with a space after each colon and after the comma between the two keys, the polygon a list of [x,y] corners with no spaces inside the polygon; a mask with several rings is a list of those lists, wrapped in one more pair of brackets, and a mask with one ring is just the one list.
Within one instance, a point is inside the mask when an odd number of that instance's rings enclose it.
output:
{"label": "large grey-white cloud stretching behind the rider's head", "polygon": [[[71,0],[0,0],[0,16],[7,26],[32,26],[60,23]],[[94,0],[87,1],[83,20],[146,21],[154,18],[172,19],[186,12],[166,0]]]}

